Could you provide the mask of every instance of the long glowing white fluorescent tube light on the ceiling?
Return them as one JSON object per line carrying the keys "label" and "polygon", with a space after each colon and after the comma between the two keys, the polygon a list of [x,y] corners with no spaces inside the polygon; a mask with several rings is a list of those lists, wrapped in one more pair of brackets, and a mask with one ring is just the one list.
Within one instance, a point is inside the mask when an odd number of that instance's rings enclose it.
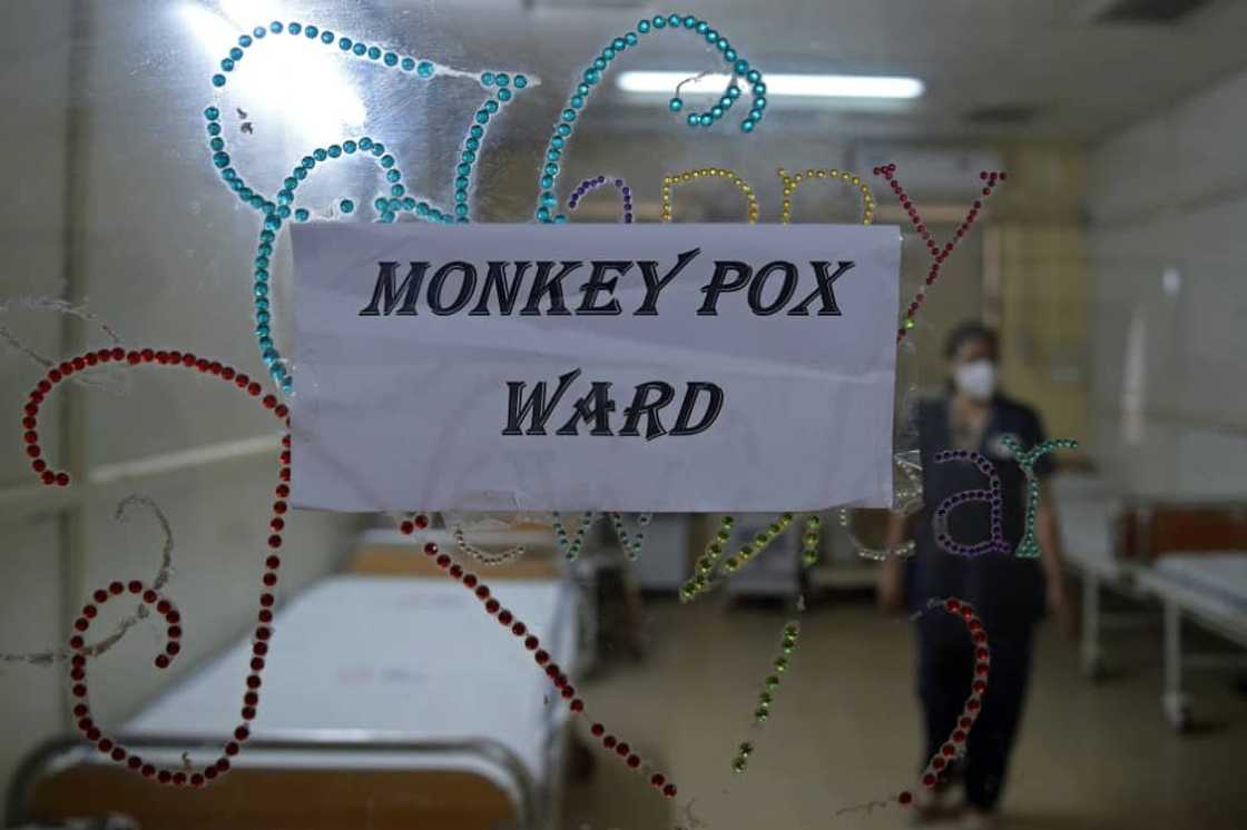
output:
{"label": "long glowing white fluorescent tube light on the ceiling", "polygon": [[[696,80],[690,80],[696,79]],[[731,75],[697,72],[624,72],[619,87],[625,92],[658,92],[675,95],[680,85],[685,92],[722,95]],[[819,98],[917,98],[925,85],[915,77],[887,75],[763,75],[768,96],[804,96]],[[687,81],[687,82],[686,82]]]}

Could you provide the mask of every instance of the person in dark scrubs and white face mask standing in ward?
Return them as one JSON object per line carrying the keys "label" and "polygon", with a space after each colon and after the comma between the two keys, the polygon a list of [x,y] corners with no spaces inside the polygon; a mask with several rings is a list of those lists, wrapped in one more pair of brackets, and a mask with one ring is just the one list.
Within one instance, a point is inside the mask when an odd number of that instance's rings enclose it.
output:
{"label": "person in dark scrubs and white face mask standing in ward", "polygon": [[[923,466],[924,507],[907,521],[893,516],[888,543],[914,540],[914,556],[890,558],[880,571],[879,601],[884,608],[904,603],[923,612],[928,599],[956,597],[974,606],[991,647],[991,674],[983,697],[983,712],[970,732],[964,759],[950,770],[946,783],[923,790],[915,801],[920,818],[940,813],[956,780],[965,785],[965,826],[995,828],[996,808],[1004,786],[1009,754],[1018,733],[1030,677],[1035,624],[1045,607],[1071,627],[1062,553],[1052,497],[1040,486],[1036,536],[1040,557],[1014,555],[1026,517],[1026,477],[1005,447],[1011,436],[1024,450],[1046,439],[1039,415],[996,388],[996,335],[966,323],[948,338],[948,391],[922,401],[915,411]],[[971,450],[985,456],[1000,479],[1001,533],[1009,552],[964,556],[945,552],[932,526],[934,512],[946,497],[989,487],[986,476],[969,461],[936,462],[945,450]],[[1042,481],[1051,472],[1050,456],[1035,464]],[[963,502],[948,513],[948,532],[963,545],[990,537],[988,502]],[[927,754],[923,764],[948,740],[970,693],[974,654],[964,622],[943,612],[923,613],[917,623],[918,697],[925,723]]]}

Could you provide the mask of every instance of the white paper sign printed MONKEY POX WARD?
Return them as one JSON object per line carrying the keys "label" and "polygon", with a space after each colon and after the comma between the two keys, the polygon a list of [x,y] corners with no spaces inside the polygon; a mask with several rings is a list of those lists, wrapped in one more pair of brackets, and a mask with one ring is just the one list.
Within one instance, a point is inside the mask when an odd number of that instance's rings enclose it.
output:
{"label": "white paper sign printed MONKEY POX WARD", "polygon": [[292,236],[296,506],[892,501],[895,227]]}

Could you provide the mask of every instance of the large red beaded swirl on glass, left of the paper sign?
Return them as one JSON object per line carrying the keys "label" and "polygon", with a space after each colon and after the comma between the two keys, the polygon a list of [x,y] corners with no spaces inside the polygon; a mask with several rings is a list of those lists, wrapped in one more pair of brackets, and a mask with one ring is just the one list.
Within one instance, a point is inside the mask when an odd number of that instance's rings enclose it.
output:
{"label": "large red beaded swirl on glass, left of the paper sign", "polygon": [[[71,378],[76,373],[90,371],[94,368],[110,364],[122,364],[130,366],[155,364],[171,369],[195,369],[200,374],[217,378],[224,383],[232,384],[239,391],[246,393],[251,398],[259,399],[259,403],[264,406],[264,409],[269,410],[283,425],[283,427],[289,427],[289,411],[284,404],[278,403],[277,398],[271,394],[261,398],[263,388],[258,381],[252,380],[247,375],[236,371],[233,368],[223,365],[217,360],[200,358],[190,351],[182,353],[163,349],[126,350],[120,346],[115,346],[111,349],[87,351],[70,360],[65,360],[60,365],[49,370],[49,373],[35,385],[35,389],[31,390],[25,404],[21,426],[22,436],[26,442],[26,455],[31,459],[30,464],[35,475],[39,476],[40,481],[45,485],[60,487],[67,486],[70,484],[70,475],[62,470],[52,469],[47,461],[44,460],[42,449],[39,445],[40,406],[60,383]],[[273,634],[273,631],[269,627],[269,623],[273,621],[272,607],[276,601],[272,591],[277,586],[277,570],[282,565],[282,561],[277,556],[276,551],[282,546],[282,530],[286,527],[286,520],[283,516],[288,510],[286,498],[291,492],[289,446],[291,437],[289,434],[286,432],[282,436],[282,452],[277,474],[278,481],[274,490],[277,498],[273,502],[273,516],[269,520],[269,552],[264,560],[264,571],[261,576],[262,589],[259,594],[259,611],[257,614],[258,624],[256,626],[254,638],[252,642],[251,673],[246,678],[243,689],[243,705],[241,712],[242,720],[234,729],[233,738],[226,742],[226,744],[221,748],[221,756],[217,758],[217,760],[200,769],[191,768],[188,764],[177,768],[157,766],[156,764],[143,760],[143,758],[117,743],[91,718],[91,705],[87,688],[87,658],[95,657],[95,653],[86,642],[86,633],[91,628],[92,621],[99,616],[100,607],[113,597],[132,594],[138,597],[145,607],[152,608],[156,613],[161,614],[167,624],[165,632],[165,648],[156,656],[153,662],[156,668],[166,669],[172,664],[173,659],[176,659],[178,652],[181,651],[182,642],[182,618],[172,599],[157,591],[155,587],[145,584],[137,580],[128,583],[112,582],[106,588],[95,591],[91,597],[92,601],[82,607],[82,613],[74,621],[74,634],[69,641],[70,680],[72,683],[70,690],[75,700],[74,718],[77,723],[77,728],[87,740],[95,744],[96,749],[117,764],[133,770],[143,778],[156,780],[161,784],[168,784],[171,786],[205,786],[229,771],[229,759],[242,750],[242,744],[251,735],[248,724],[254,720],[257,708],[259,707],[261,673],[264,670],[264,656],[268,653],[268,641]]]}

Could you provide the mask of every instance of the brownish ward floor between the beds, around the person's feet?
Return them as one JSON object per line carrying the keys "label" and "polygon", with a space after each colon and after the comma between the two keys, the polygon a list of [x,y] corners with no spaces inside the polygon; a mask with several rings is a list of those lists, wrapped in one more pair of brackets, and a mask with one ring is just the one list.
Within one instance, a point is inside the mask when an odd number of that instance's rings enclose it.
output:
{"label": "brownish ward floor between the beds, around the person's feet", "polygon": [[[754,729],[788,614],[715,601],[646,613],[648,656],[612,662],[584,688],[599,718],[670,770],[680,795],[665,803],[599,754],[591,779],[569,793],[567,830],[910,826],[895,805],[867,809],[909,786],[918,758],[907,621],[860,599],[806,611],[773,714]],[[1226,674],[1192,674],[1203,725],[1176,734],[1160,710],[1158,644],[1155,626],[1114,634],[1116,674],[1092,684],[1076,646],[1045,628],[1005,828],[1247,828],[1247,698]],[[737,775],[731,760],[746,739],[756,751]]]}

